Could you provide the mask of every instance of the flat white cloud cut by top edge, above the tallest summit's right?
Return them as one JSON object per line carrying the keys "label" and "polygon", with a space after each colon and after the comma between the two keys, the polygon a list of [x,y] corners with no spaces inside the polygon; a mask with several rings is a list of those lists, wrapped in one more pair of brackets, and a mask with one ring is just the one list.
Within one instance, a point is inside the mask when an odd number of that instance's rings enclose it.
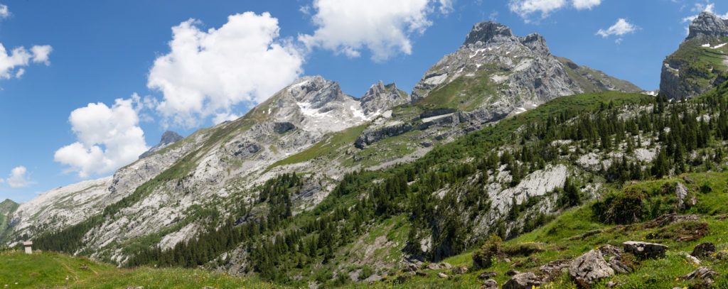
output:
{"label": "flat white cloud cut by top edge, above the tallest summit's right", "polygon": [[541,18],[548,17],[563,7],[574,7],[577,10],[592,9],[601,4],[601,0],[509,0],[508,9],[515,12],[529,23],[531,15],[541,13]]}

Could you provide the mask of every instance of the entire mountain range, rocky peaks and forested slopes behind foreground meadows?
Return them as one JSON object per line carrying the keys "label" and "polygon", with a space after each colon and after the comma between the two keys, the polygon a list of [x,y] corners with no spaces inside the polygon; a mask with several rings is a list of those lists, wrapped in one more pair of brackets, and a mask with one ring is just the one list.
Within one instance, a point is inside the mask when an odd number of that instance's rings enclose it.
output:
{"label": "entire mountain range, rocky peaks and forested slopes behind foreground meadows", "polygon": [[526,234],[628,181],[701,170],[719,146],[674,135],[719,131],[722,114],[684,105],[695,121],[666,132],[646,117],[668,114],[663,96],[718,93],[727,43],[728,21],[701,13],[654,97],[552,55],[539,33],[477,23],[411,93],[380,81],[355,98],[303,76],[240,119],[165,132],[114,175],[1,203],[0,241],[299,285],[330,284],[349,265],[351,280],[381,280]]}

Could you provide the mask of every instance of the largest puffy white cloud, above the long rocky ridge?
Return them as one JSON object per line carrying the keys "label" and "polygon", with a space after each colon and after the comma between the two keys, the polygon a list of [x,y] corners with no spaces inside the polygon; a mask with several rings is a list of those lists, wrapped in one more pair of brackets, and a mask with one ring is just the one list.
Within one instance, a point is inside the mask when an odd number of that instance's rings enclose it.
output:
{"label": "largest puffy white cloud, above the long rocky ridge", "polygon": [[157,111],[170,122],[194,127],[232,106],[261,102],[293,82],[304,62],[269,13],[231,15],[221,28],[201,31],[190,19],[172,28],[170,52],[154,60],[147,87],[164,99]]}

